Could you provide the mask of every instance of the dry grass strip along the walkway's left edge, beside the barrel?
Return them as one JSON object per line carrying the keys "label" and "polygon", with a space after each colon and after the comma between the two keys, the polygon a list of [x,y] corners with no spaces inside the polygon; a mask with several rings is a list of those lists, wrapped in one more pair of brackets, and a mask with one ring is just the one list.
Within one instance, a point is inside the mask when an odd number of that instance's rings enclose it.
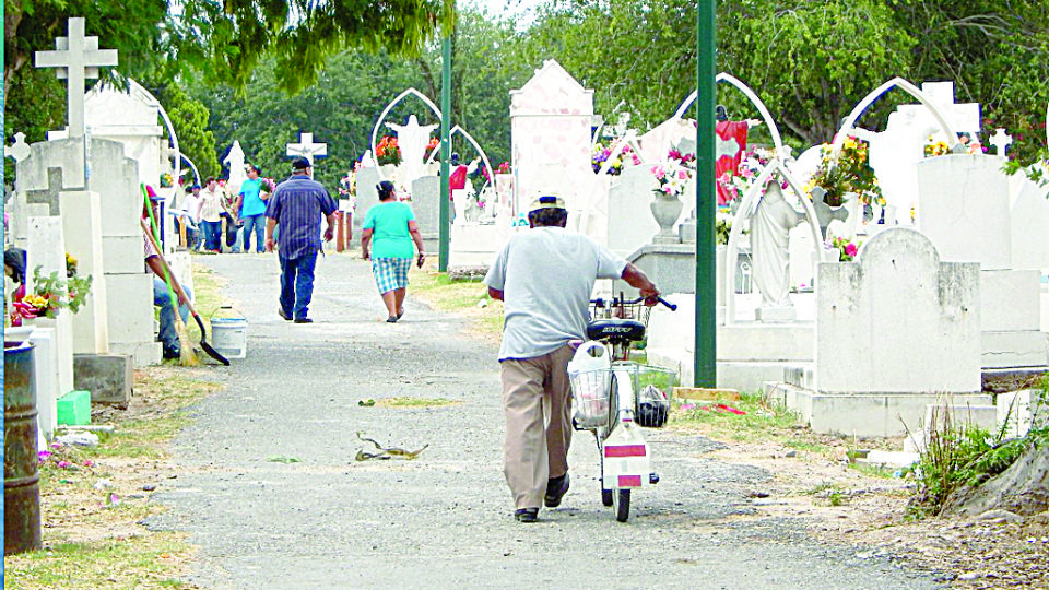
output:
{"label": "dry grass strip along the walkway's left edge, beside the barrel", "polygon": [[[198,269],[195,286],[201,314],[224,304],[210,272]],[[195,555],[185,535],[152,532],[140,522],[167,509],[149,496],[174,470],[166,463],[168,442],[189,422],[187,409],[221,387],[197,378],[204,375],[170,363],[135,370],[127,410],[92,412],[92,423],[114,426],[95,433],[97,446],[51,445],[39,464],[44,547],[4,557],[5,588],[197,588],[178,579]]]}

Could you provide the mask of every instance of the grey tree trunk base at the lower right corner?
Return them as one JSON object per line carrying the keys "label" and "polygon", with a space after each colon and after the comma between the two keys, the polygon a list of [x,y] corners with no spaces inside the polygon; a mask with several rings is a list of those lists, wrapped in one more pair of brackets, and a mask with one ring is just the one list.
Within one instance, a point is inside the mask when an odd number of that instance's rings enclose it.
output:
{"label": "grey tree trunk base at the lower right corner", "polygon": [[1049,509],[1049,446],[1032,445],[1009,469],[979,487],[951,494],[944,515],[978,516],[991,509],[1032,516]]}

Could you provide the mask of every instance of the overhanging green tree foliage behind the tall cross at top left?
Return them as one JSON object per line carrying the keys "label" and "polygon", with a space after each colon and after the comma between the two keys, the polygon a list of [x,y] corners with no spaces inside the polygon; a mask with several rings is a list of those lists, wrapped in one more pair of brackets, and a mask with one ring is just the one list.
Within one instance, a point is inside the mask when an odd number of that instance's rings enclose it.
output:
{"label": "overhanging green tree foliage behind the tall cross at top left", "polygon": [[[119,52],[123,75],[177,80],[196,68],[209,83],[241,91],[269,54],[276,60],[276,85],[293,92],[317,82],[327,57],[345,47],[420,55],[441,24],[440,14],[436,0],[182,0],[170,11],[165,0],[9,0],[4,95],[32,90],[13,84],[30,80],[16,74],[32,67],[34,51],[54,48],[70,16],[85,17],[85,33],[97,36],[101,48]],[[14,120],[27,117],[17,114]]]}

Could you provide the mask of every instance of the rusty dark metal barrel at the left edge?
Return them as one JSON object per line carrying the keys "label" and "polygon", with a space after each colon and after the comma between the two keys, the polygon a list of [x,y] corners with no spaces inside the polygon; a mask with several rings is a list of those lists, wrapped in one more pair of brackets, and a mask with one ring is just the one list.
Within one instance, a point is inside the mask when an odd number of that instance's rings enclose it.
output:
{"label": "rusty dark metal barrel at the left edge", "polygon": [[27,342],[3,344],[4,555],[40,548],[33,346]]}

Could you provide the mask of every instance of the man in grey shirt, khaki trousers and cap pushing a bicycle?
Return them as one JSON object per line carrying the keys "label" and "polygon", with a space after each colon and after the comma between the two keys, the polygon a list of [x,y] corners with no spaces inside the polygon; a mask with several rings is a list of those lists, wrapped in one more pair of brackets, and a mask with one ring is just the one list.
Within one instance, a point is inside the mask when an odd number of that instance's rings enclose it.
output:
{"label": "man in grey shirt, khaki trousers and cap pushing a bicycle", "polygon": [[554,508],[568,492],[573,426],[567,365],[570,343],[587,338],[594,282],[622,279],[646,305],[659,296],[640,269],[565,229],[567,221],[561,197],[537,197],[528,211],[531,229],[507,241],[484,278],[488,295],[504,303],[504,474],[520,522],[535,522],[540,500]]}

